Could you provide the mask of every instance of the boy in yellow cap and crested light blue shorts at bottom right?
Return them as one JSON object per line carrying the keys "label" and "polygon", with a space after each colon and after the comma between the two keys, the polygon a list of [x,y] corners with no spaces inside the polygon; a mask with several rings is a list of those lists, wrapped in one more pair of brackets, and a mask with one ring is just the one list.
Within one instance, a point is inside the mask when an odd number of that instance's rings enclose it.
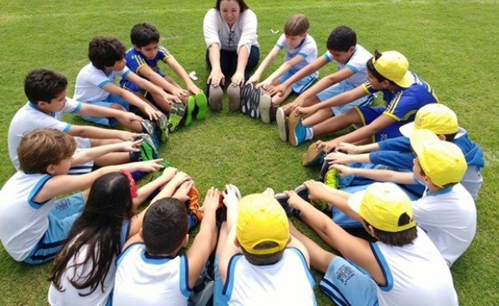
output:
{"label": "boy in yellow cap and crested light blue shorts at bottom right", "polygon": [[319,287],[336,305],[458,305],[446,262],[396,185],[374,183],[349,198],[352,215],[376,243],[350,235],[293,191],[287,194],[302,220],[343,256],[291,228],[309,250],[312,267],[324,272]]}

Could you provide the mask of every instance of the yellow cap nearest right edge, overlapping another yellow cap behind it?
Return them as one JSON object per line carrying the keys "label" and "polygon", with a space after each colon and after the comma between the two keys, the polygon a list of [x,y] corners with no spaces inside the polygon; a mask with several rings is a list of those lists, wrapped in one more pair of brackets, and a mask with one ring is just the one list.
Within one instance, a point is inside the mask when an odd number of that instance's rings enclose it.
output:
{"label": "yellow cap nearest right edge, overlapping another yellow cap behind it", "polygon": [[410,139],[419,165],[431,183],[443,188],[444,185],[461,182],[468,168],[461,148],[439,140],[432,131],[426,129],[413,131]]}

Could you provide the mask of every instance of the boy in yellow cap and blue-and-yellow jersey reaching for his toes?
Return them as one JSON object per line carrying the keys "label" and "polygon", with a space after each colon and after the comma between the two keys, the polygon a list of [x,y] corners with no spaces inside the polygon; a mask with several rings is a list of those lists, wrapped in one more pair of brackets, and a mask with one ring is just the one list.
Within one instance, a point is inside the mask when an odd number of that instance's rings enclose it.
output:
{"label": "boy in yellow cap and blue-and-yellow jersey reaching for his toes", "polygon": [[[428,83],[408,70],[407,58],[401,53],[374,51],[374,56],[366,62],[366,66],[366,83],[314,106],[298,107],[289,116],[289,143],[292,146],[312,140],[314,136],[340,131],[352,124],[361,127],[332,141],[317,141],[317,147],[329,152],[341,142],[367,143],[401,136],[398,128],[413,121],[414,113],[419,108],[438,103]],[[314,113],[319,108],[341,106],[380,91],[388,106],[354,107],[325,121],[311,122],[309,118],[302,121],[299,117],[300,113]]]}

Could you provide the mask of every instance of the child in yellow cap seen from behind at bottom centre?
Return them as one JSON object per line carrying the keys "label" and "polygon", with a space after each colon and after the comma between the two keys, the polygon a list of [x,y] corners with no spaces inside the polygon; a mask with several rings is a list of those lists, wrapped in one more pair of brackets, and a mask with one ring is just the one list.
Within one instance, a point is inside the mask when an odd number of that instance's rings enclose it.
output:
{"label": "child in yellow cap seen from behind at bottom centre", "polygon": [[284,209],[271,195],[235,193],[227,185],[214,305],[316,305],[307,249],[289,234]]}

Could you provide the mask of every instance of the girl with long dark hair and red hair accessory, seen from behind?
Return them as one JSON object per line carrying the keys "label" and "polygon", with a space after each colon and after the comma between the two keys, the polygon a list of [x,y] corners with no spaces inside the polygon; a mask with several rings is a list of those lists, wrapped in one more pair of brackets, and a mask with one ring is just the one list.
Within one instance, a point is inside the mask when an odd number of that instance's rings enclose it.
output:
{"label": "girl with long dark hair and red hair accessory, seen from behind", "polygon": [[52,306],[110,305],[115,259],[125,241],[138,234],[147,211],[137,214],[138,206],[163,185],[151,203],[165,196],[185,197],[192,188],[188,179],[175,168],[165,168],[163,175],[137,190],[126,171],[98,178],[53,262],[48,302]]}

